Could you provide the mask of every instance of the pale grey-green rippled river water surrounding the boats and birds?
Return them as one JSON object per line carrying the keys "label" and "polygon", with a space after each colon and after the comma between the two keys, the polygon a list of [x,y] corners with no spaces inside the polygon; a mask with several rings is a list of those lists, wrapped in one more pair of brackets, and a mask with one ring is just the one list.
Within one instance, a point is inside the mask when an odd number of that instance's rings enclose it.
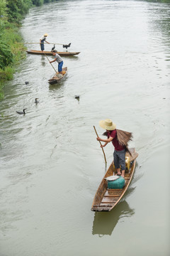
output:
{"label": "pale grey-green rippled river water surrounding the boats and birds", "polygon": [[[169,255],[169,14],[169,4],[152,1],[30,9],[25,42],[48,33],[47,41],[72,43],[69,50],[81,53],[63,57],[68,75],[60,85],[49,86],[54,70],[40,55],[27,55],[6,82],[1,256]],[[23,108],[25,116],[16,114]],[[106,118],[133,133],[139,156],[123,200],[110,213],[94,213],[106,167],[93,126],[101,136],[98,122]],[[109,166],[113,146],[104,149]]]}

